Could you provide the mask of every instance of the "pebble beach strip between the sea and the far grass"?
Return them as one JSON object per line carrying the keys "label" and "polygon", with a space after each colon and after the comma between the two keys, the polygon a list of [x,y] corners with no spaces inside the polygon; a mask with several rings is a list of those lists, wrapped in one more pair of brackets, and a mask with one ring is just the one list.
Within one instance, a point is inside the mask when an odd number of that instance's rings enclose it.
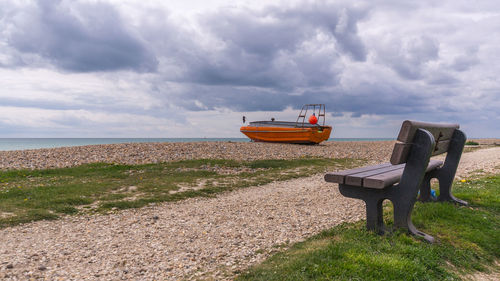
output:
{"label": "pebble beach strip between the sea and the far grass", "polygon": [[295,145],[255,142],[121,143],[0,151],[0,169],[47,169],[105,162],[146,164],[190,159],[356,158],[384,161],[394,141]]}

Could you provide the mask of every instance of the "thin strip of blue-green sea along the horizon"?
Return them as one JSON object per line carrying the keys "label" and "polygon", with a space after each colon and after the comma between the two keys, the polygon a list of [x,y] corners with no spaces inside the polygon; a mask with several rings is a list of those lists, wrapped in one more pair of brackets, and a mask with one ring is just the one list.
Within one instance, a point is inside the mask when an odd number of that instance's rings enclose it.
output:
{"label": "thin strip of blue-green sea along the horizon", "polygon": [[[392,138],[331,138],[328,141],[385,141]],[[142,142],[249,142],[248,138],[0,138],[0,151]]]}

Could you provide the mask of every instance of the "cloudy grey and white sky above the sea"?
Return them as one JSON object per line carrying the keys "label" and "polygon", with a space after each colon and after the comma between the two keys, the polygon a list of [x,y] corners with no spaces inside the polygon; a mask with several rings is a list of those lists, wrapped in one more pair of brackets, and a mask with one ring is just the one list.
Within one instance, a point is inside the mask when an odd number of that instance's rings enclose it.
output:
{"label": "cloudy grey and white sky above the sea", "polygon": [[324,103],[500,138],[500,2],[0,1],[0,137],[244,137]]}

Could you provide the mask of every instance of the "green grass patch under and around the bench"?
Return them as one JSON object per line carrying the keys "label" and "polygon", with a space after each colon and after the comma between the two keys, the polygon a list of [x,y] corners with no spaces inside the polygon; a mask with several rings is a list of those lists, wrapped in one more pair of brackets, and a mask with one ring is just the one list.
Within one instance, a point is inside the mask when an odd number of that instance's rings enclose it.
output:
{"label": "green grass patch under and around the bench", "polygon": [[366,231],[364,221],[343,224],[273,255],[238,280],[460,280],[487,271],[500,258],[500,175],[457,182],[454,194],[470,206],[415,205],[414,224],[436,244],[402,231],[379,236]]}

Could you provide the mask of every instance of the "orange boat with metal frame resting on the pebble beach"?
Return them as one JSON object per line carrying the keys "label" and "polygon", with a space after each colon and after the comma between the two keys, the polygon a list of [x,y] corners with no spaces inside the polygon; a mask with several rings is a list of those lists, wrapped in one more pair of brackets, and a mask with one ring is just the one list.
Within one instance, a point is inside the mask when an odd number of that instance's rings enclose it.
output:
{"label": "orange boat with metal frame resting on the pebble beach", "polygon": [[[312,114],[309,117],[310,122],[306,123],[309,110]],[[318,119],[322,119],[322,125],[316,123]],[[274,121],[274,118],[271,121],[255,121],[241,127],[240,132],[256,142],[318,144],[330,138],[332,127],[325,125],[324,104],[306,104],[296,122]]]}

